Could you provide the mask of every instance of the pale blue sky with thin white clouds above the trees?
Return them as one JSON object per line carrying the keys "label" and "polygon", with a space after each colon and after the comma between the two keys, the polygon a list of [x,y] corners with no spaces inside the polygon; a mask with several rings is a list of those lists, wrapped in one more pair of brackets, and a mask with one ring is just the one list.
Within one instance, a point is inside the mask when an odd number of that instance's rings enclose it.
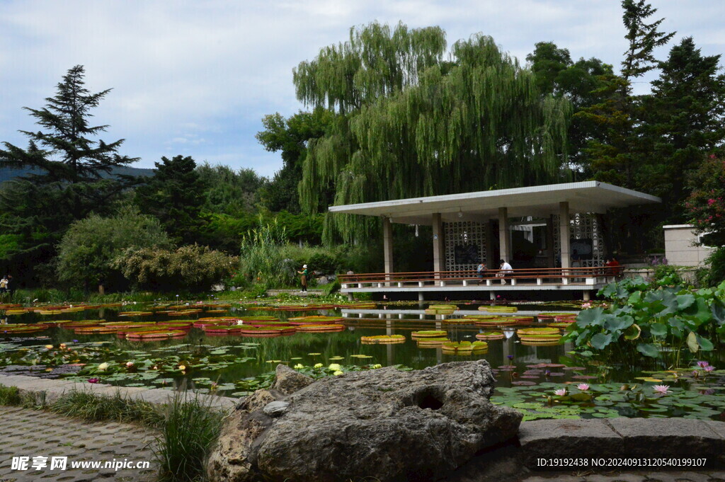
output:
{"label": "pale blue sky with thin white clouds above the trees", "polygon": [[[725,1],[651,3],[674,42],[692,36],[703,54],[725,53]],[[522,63],[539,41],[616,69],[626,50],[618,0],[0,0],[0,141],[25,147],[18,130],[37,126],[22,107],[43,107],[83,65],[87,88],[113,89],[94,110],[109,125],[101,138],[124,138],[135,167],[183,154],[271,176],[281,157],[254,134],[265,115],[305,109],[292,69],[373,21],[439,25],[449,46],[484,33]]]}

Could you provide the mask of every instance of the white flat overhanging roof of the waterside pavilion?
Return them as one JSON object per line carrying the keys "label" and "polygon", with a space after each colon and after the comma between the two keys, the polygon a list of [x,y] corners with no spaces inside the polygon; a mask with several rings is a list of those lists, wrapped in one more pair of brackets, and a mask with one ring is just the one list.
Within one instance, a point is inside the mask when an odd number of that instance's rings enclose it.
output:
{"label": "white flat overhanging roof of the waterside pavilion", "polygon": [[431,215],[436,212],[441,213],[444,221],[484,221],[497,218],[500,207],[508,208],[509,217],[547,217],[559,212],[559,203],[562,201],[568,201],[569,212],[603,214],[607,209],[658,203],[661,199],[596,180],[587,180],[579,183],[346,204],[328,209],[330,212],[354,215],[386,216],[393,223],[430,225]]}

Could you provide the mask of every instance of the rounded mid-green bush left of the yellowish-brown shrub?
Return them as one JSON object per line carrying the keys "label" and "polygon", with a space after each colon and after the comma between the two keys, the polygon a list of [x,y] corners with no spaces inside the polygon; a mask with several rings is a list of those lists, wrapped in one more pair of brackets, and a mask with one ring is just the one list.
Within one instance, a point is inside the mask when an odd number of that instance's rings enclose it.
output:
{"label": "rounded mid-green bush left of the yellowish-brown shrub", "polygon": [[[90,215],[70,226],[58,246],[58,278],[65,286],[86,288],[110,283],[118,286],[120,273],[112,262],[126,249],[170,248],[159,220],[126,207],[112,217]],[[121,278],[123,279],[123,278]]]}

